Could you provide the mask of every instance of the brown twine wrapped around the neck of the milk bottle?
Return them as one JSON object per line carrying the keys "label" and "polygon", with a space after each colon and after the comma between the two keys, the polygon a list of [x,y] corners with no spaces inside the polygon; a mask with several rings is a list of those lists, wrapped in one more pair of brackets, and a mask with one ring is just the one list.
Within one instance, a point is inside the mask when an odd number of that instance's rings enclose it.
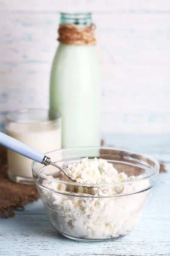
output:
{"label": "brown twine wrapped around the neck of the milk bottle", "polygon": [[96,38],[94,37],[94,30],[96,26],[76,26],[75,24],[60,24],[58,33],[58,41],[62,44],[74,45],[95,45]]}

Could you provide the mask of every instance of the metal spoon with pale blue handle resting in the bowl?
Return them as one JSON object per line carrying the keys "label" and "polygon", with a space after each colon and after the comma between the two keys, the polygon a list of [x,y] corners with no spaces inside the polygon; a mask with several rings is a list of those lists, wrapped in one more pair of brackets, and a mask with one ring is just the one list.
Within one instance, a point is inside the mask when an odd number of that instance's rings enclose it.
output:
{"label": "metal spoon with pale blue handle resting in the bowl", "polygon": [[42,163],[45,166],[51,164],[52,166],[55,166],[60,171],[62,171],[65,174],[65,176],[67,176],[70,179],[70,181],[75,182],[75,180],[71,179],[71,177],[69,177],[68,174],[65,173],[64,169],[62,169],[56,163],[51,162],[50,157],[45,156],[43,153],[37,151],[36,149],[31,148],[25,143],[20,142],[19,140],[16,140],[6,134],[3,134],[2,132],[0,132],[0,145],[9,148],[12,151],[15,151],[16,153],[23,155],[24,157],[28,157],[38,163]]}

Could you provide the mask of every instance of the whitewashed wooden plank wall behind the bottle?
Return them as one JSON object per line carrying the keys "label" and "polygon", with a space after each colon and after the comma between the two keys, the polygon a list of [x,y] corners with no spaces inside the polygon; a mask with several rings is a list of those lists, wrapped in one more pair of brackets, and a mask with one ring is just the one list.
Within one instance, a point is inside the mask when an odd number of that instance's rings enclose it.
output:
{"label": "whitewashed wooden plank wall behind the bottle", "polygon": [[0,129],[7,111],[48,107],[59,11],[95,11],[102,133],[168,133],[170,0],[0,0]]}

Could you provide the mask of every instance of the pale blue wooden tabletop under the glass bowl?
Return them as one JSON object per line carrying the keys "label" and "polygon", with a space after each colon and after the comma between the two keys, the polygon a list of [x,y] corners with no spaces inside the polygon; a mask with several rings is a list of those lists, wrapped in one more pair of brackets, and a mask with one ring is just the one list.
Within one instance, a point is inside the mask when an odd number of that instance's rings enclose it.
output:
{"label": "pale blue wooden tabletop under the glass bowl", "polygon": [[168,172],[160,175],[153,198],[134,230],[113,242],[72,241],[55,230],[39,200],[28,204],[25,211],[17,211],[14,218],[0,219],[0,256],[170,256],[170,138],[166,135],[105,135],[104,138],[106,144],[138,149],[167,162]]}

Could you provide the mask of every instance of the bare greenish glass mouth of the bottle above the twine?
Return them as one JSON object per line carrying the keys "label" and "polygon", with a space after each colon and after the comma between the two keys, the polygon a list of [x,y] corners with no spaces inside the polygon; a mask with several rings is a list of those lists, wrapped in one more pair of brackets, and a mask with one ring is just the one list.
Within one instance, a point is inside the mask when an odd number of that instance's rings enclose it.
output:
{"label": "bare greenish glass mouth of the bottle above the twine", "polygon": [[60,24],[70,23],[77,26],[90,26],[91,13],[60,13]]}

